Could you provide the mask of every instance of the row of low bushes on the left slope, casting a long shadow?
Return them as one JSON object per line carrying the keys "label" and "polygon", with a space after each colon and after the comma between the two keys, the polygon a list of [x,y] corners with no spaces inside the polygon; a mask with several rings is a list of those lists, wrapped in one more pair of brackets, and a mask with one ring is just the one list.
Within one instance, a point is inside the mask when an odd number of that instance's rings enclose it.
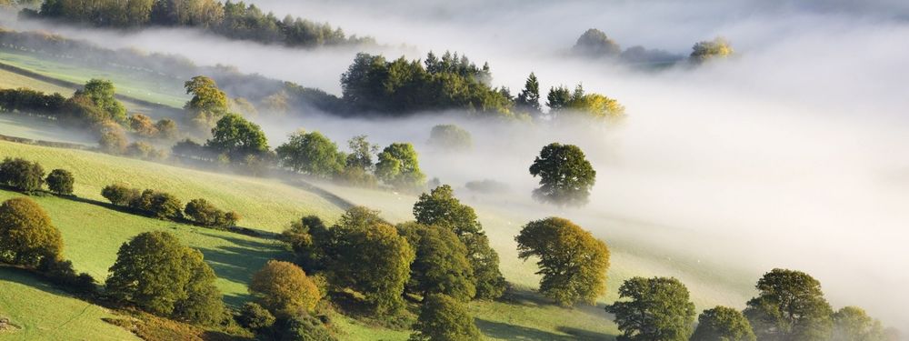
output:
{"label": "row of low bushes on the left slope, casting a long shadow", "polygon": [[126,207],[147,216],[159,219],[180,220],[189,217],[195,224],[207,227],[225,228],[235,226],[240,215],[223,211],[205,199],[190,200],[183,206],[176,196],[152,189],[140,191],[125,185],[105,186],[101,196],[114,206]]}

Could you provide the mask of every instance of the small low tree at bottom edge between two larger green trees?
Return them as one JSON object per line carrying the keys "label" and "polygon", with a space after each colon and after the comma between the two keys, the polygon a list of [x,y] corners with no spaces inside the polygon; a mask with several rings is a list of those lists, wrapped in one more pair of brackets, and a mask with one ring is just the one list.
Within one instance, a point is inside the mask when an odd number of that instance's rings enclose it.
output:
{"label": "small low tree at bottom edge between two larger green trees", "polygon": [[757,341],[751,324],[741,312],[726,306],[704,310],[697,317],[691,341]]}

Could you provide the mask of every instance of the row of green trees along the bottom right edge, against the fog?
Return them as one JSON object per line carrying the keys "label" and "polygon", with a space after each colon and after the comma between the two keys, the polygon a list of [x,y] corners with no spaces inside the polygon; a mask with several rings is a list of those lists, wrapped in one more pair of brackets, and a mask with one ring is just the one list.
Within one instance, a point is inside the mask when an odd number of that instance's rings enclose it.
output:
{"label": "row of green trees along the bottom right edge, against the fog", "polygon": [[675,278],[634,277],[619,287],[624,300],[606,306],[620,340],[851,340],[884,341],[881,323],[855,306],[834,312],[821,284],[800,271],[774,269],[757,282],[758,296],[744,311],[726,306],[704,310],[694,327],[694,303]]}

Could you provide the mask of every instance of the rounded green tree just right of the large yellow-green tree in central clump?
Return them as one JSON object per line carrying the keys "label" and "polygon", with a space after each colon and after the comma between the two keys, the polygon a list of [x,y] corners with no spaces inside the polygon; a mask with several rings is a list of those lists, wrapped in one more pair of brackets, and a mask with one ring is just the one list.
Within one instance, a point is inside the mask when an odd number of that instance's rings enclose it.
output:
{"label": "rounded green tree just right of the large yellow-green tree in central clump", "polygon": [[408,291],[423,296],[443,294],[461,301],[474,298],[474,269],[467,259],[467,246],[451,230],[419,223],[397,228],[416,251]]}

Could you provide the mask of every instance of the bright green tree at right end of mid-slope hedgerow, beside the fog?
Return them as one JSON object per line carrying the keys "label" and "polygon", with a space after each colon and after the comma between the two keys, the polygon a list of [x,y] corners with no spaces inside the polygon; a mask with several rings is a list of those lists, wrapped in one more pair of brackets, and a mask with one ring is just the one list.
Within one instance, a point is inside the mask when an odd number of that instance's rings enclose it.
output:
{"label": "bright green tree at right end of mid-slope hedgerow, beside the fog", "polygon": [[414,145],[406,143],[388,145],[379,153],[375,176],[398,189],[415,189],[426,182]]}

